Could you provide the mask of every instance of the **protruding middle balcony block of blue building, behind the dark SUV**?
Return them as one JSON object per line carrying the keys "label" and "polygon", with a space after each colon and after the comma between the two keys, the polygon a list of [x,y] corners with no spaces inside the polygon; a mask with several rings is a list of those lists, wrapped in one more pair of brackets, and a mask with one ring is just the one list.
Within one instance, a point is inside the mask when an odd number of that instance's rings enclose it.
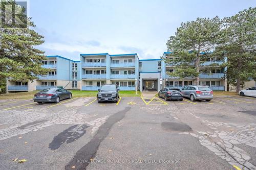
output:
{"label": "protruding middle balcony block of blue building, behind the dark SUV", "polygon": [[139,77],[137,54],[81,54],[81,90],[98,90],[116,84],[120,90],[135,90]]}

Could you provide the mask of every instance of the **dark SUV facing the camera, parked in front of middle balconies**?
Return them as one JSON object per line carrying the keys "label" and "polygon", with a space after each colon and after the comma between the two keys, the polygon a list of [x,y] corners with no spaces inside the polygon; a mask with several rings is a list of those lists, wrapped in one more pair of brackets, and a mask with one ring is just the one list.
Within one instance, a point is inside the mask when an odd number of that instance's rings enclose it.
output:
{"label": "dark SUV facing the camera, parked in front of middle balconies", "polygon": [[117,102],[119,98],[119,89],[115,84],[105,84],[99,89],[97,94],[98,102]]}

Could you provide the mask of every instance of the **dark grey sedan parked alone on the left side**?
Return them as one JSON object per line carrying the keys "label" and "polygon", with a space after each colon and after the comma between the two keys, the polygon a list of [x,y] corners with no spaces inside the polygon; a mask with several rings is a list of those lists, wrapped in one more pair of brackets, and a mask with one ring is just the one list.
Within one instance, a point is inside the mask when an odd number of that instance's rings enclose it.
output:
{"label": "dark grey sedan parked alone on the left side", "polygon": [[37,92],[34,95],[34,102],[43,103],[43,102],[55,102],[59,103],[59,101],[63,99],[71,99],[72,93],[63,88],[49,88],[42,91]]}

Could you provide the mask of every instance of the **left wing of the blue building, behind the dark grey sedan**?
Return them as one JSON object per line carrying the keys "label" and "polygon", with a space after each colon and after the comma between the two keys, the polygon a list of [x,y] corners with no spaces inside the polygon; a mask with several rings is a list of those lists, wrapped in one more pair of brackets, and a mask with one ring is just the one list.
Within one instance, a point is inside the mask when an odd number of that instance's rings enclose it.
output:
{"label": "left wing of the blue building, behind the dark grey sedan", "polygon": [[43,90],[63,87],[80,89],[80,61],[73,61],[61,56],[47,56],[41,61],[42,67],[50,68],[47,75],[40,75],[33,82],[18,82],[7,80],[7,92]]}

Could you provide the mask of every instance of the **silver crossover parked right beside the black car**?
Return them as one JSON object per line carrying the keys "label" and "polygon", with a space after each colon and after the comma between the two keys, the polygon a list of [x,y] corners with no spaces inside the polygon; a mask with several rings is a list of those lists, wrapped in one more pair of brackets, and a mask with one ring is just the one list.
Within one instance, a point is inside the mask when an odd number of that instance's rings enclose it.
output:
{"label": "silver crossover parked right beside the black car", "polygon": [[205,100],[209,102],[214,98],[214,93],[208,86],[185,86],[182,90],[183,96],[190,101]]}

